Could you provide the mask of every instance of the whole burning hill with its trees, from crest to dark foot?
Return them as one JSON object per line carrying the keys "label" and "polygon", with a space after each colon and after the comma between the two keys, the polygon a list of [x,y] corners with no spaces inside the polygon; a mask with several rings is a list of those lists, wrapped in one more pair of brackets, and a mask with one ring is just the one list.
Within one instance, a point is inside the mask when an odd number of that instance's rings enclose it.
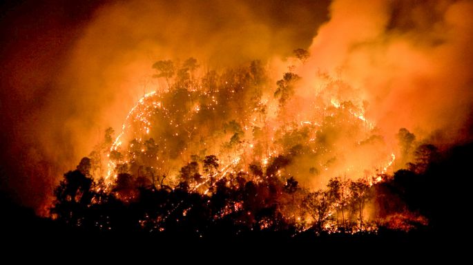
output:
{"label": "whole burning hill with its trees, from crest to dark foot", "polygon": [[[394,181],[399,148],[387,145],[365,116],[366,101],[343,98],[354,89],[341,79],[325,74],[315,96],[301,98],[293,65],[273,82],[260,61],[202,76],[193,58],[153,67],[166,88],[145,94],[119,134],[107,129],[90,158],[66,173],[56,190],[55,218],[88,229],[125,229],[117,216],[84,216],[69,206],[122,207],[122,214],[144,207],[127,217],[136,229],[189,229],[199,236],[220,226],[234,235],[255,229],[296,235],[428,224],[395,191],[383,189]],[[309,111],[297,111],[302,103]],[[407,129],[398,140],[407,161],[420,144]],[[412,170],[434,157],[434,147],[425,146],[417,147],[423,153],[416,153]]]}

